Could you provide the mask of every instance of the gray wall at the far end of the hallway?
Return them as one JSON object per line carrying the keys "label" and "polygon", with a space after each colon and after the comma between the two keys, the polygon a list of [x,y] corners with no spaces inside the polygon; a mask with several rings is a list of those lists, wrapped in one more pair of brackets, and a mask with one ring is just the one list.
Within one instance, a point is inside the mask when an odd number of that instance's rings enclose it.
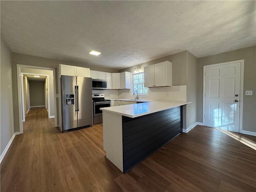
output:
{"label": "gray wall at the far end of the hallway", "polygon": [[44,81],[29,81],[30,107],[45,106]]}

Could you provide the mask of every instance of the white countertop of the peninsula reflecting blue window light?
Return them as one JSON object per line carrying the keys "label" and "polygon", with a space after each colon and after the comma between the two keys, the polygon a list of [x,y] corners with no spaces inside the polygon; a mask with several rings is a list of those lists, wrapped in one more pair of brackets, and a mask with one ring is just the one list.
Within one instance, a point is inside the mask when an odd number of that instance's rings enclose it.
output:
{"label": "white countertop of the peninsula reflecting blue window light", "polygon": [[163,100],[154,100],[150,102],[137,103],[137,104],[129,104],[122,106],[114,106],[114,107],[104,107],[100,108],[102,111],[135,118],[159,111],[163,111],[166,109],[190,104],[191,102],[187,101],[163,101]]}

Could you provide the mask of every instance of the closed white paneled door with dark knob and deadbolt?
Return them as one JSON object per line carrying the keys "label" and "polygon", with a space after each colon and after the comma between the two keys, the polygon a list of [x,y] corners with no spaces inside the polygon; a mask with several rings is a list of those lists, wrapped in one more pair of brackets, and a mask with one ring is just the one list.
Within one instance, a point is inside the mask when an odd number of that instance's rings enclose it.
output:
{"label": "closed white paneled door with dark knob and deadbolt", "polygon": [[239,132],[240,70],[240,62],[206,66],[206,126]]}

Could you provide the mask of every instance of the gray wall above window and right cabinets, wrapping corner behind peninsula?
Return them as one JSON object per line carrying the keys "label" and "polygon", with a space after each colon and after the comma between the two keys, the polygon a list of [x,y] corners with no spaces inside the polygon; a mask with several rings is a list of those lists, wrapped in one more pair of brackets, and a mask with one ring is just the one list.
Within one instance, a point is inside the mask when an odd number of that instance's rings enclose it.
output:
{"label": "gray wall above window and right cabinets, wrapping corner behind peninsula", "polygon": [[[192,104],[188,104],[186,106],[186,120],[184,119],[184,124],[186,124],[186,128],[189,128],[194,123],[196,123],[196,63],[197,58],[193,56],[188,51],[182,51],[170,56],[158,58],[156,60],[152,60],[146,63],[142,63],[136,66],[144,66],[156,64],[163,61],[172,62],[172,86],[187,86],[187,101],[191,101]],[[132,66],[129,68],[125,68],[119,70],[118,72],[134,72],[134,68],[136,66]],[[156,88],[150,88],[156,90]],[[157,88],[158,92],[161,92],[163,88]],[[122,91],[122,90],[120,90]]]}

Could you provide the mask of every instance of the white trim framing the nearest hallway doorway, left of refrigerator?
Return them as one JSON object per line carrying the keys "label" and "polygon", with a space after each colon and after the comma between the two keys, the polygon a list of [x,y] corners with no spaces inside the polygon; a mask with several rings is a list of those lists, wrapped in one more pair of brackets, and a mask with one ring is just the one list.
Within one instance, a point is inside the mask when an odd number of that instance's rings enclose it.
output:
{"label": "white trim framing the nearest hallway doorway, left of refrigerator", "polygon": [[[38,67],[38,66],[17,64],[18,113],[19,113],[20,134],[23,133],[23,125],[22,125],[22,95],[21,95],[21,80],[20,80],[21,79],[21,72],[20,72],[20,68],[21,67],[24,67],[24,68],[34,68],[34,69],[44,69],[44,70],[52,70],[52,72],[53,72],[53,92],[54,92],[54,116],[57,117],[55,68],[47,68],[47,67]],[[57,118],[55,118],[55,127],[57,127]]]}

